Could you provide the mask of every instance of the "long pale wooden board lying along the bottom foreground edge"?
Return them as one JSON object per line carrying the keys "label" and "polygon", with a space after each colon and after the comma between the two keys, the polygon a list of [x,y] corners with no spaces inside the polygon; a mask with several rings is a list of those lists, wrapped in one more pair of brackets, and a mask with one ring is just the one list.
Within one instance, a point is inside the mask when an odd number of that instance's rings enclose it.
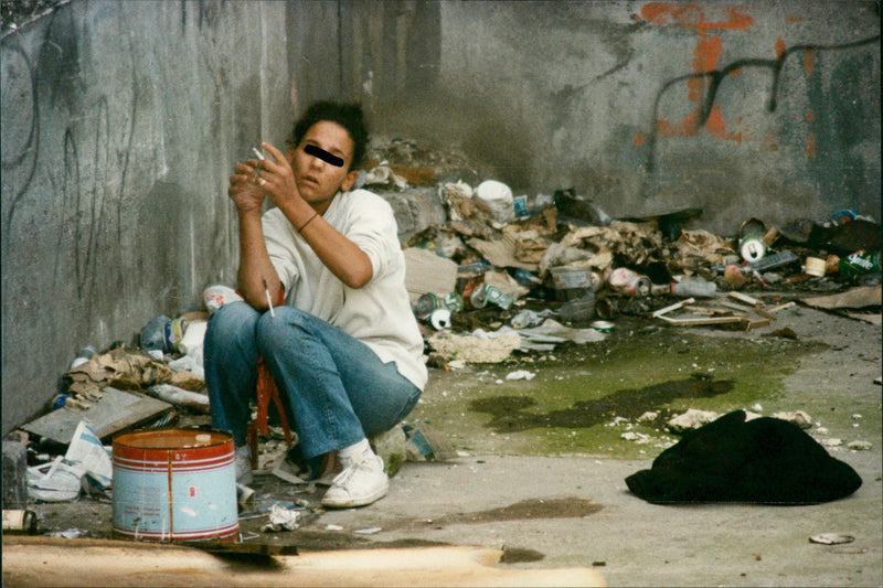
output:
{"label": "long pale wooden board lying along the bottom foreground edge", "polygon": [[[586,567],[499,566],[503,552],[432,546],[301,552],[267,565],[194,547],[3,535],[3,584],[31,586],[607,586]],[[51,562],[52,565],[38,565]]]}

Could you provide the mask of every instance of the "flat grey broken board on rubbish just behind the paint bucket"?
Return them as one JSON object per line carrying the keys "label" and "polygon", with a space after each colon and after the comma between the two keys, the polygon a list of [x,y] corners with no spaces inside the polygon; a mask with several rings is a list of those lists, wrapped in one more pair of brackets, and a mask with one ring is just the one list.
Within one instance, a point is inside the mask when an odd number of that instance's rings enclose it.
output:
{"label": "flat grey broken board on rubbish just behind the paint bucket", "polygon": [[104,439],[124,429],[143,425],[172,410],[172,405],[143,394],[104,388],[102,399],[88,410],[61,407],[22,425],[21,429],[70,445],[83,419],[88,419],[98,437]]}

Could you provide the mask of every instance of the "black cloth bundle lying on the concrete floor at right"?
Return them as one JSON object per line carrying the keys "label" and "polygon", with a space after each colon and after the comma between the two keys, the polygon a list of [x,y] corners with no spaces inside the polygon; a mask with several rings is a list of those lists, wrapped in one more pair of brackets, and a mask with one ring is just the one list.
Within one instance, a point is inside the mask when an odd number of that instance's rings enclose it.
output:
{"label": "black cloth bundle lying on the concrete floor at right", "polygon": [[852,494],[862,479],[797,425],[772,417],[746,423],[745,411],[735,410],[688,431],[626,483],[657,504],[816,504]]}

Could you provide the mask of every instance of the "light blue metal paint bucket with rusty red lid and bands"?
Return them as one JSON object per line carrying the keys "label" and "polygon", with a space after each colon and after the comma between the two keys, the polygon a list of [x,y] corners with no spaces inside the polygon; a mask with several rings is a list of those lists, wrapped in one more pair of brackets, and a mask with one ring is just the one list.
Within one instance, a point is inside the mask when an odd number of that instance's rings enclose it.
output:
{"label": "light blue metal paint bucket with rusty red lid and bands", "polygon": [[117,538],[235,541],[233,437],[220,430],[140,430],[114,439]]}

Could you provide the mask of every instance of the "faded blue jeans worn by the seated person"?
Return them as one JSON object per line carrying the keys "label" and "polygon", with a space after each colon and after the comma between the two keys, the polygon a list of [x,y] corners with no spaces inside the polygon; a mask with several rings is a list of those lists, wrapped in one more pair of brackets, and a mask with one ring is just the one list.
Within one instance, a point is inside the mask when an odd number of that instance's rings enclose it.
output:
{"label": "faded blue jeans worn by the seated person", "polygon": [[260,356],[306,459],[389,430],[417,404],[421,389],[361,341],[296,308],[275,312],[233,302],[209,320],[203,353],[212,425],[231,431],[236,447],[246,442]]}

